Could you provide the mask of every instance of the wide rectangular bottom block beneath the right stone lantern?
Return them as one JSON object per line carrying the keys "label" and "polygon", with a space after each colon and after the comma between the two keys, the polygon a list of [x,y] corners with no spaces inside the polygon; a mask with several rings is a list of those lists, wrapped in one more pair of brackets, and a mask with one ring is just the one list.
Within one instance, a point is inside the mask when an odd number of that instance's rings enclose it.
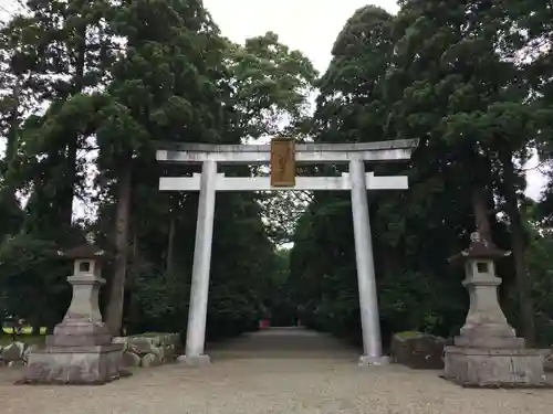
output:
{"label": "wide rectangular bottom block beneath the right stone lantern", "polygon": [[463,386],[546,386],[544,352],[534,349],[446,347],[446,380]]}

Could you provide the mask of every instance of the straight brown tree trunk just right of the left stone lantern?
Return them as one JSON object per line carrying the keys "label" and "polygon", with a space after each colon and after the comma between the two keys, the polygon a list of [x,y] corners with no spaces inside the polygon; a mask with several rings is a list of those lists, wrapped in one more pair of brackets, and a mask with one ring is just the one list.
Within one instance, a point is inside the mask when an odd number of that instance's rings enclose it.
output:
{"label": "straight brown tree trunk just right of the left stone lantern", "polygon": [[117,210],[115,213],[115,268],[107,300],[106,325],[114,336],[121,333],[123,302],[127,273],[128,223],[132,191],[132,160],[126,158],[119,177]]}

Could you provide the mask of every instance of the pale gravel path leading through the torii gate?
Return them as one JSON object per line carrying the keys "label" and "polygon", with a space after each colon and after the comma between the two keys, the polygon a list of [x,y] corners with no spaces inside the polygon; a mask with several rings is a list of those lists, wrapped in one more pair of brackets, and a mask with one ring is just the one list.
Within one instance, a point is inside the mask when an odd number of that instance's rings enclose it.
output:
{"label": "pale gravel path leading through the torii gate", "polygon": [[438,372],[359,368],[355,349],[309,331],[269,330],[211,347],[210,353],[210,367],[138,369],[132,378],[95,388],[17,386],[12,381],[21,372],[2,369],[0,412],[541,414],[553,406],[553,390],[463,390]]}

